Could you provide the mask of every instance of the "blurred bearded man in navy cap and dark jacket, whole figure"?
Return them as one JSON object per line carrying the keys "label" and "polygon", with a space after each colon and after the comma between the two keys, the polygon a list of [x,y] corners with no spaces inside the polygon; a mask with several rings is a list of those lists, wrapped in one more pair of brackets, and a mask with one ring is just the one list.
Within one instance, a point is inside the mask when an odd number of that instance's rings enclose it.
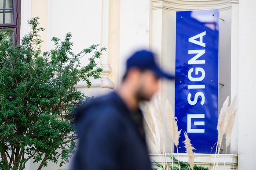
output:
{"label": "blurred bearded man in navy cap and dark jacket, whole figure", "polygon": [[151,170],[139,102],[150,100],[159,78],[173,79],[157,66],[154,54],[142,50],[127,60],[116,92],[77,109],[79,143],[72,170]]}

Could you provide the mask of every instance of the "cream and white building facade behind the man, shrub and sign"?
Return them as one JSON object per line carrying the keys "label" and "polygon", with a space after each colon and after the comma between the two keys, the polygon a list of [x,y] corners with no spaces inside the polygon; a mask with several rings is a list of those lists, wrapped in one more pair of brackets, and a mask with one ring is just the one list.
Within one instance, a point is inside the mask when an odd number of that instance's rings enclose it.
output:
{"label": "cream and white building facade behind the man, shrub and sign", "polygon": [[[4,0],[5,1],[5,0]],[[14,0],[17,7],[13,15],[20,24],[17,40],[29,32],[27,21],[40,17],[44,40],[42,50],[51,50],[51,38],[63,39],[72,33],[73,50],[100,44],[106,47],[99,66],[103,68],[100,80],[91,80],[77,86],[87,96],[106,94],[118,88],[125,69],[126,58],[134,51],[144,48],[159,56],[161,67],[175,72],[176,11],[220,9],[219,29],[219,108],[227,96],[238,93],[238,115],[234,124],[229,148],[229,169],[250,170],[254,168],[256,151],[256,114],[254,96],[256,89],[256,1],[252,0]],[[7,8],[7,7],[6,7]],[[15,18],[15,17],[14,17]],[[18,23],[15,22],[15,23]],[[4,24],[4,21],[1,22]],[[4,25],[3,25],[4,27]],[[254,62],[255,61],[255,62]],[[82,62],[86,64],[87,59]],[[174,106],[174,82],[161,81],[159,96]],[[154,148],[150,149],[152,158]],[[238,155],[238,157],[237,157]],[[198,155],[195,162],[211,166],[212,155]],[[222,160],[223,161],[223,160]],[[227,161],[227,160],[226,160]],[[221,162],[221,160],[220,160]],[[231,166],[233,165],[233,166]],[[238,166],[237,166],[238,165]],[[28,163],[26,169],[34,170],[37,164]],[[49,163],[44,170],[64,170]]]}

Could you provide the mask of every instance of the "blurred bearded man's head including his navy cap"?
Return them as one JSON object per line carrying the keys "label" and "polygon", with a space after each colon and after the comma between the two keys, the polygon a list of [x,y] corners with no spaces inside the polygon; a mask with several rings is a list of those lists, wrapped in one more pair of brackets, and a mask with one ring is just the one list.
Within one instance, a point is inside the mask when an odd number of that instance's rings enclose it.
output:
{"label": "blurred bearded man's head including his navy cap", "polygon": [[159,89],[160,78],[173,79],[174,76],[161,71],[154,53],[142,50],[128,58],[124,83],[134,90],[138,101],[152,98]]}

